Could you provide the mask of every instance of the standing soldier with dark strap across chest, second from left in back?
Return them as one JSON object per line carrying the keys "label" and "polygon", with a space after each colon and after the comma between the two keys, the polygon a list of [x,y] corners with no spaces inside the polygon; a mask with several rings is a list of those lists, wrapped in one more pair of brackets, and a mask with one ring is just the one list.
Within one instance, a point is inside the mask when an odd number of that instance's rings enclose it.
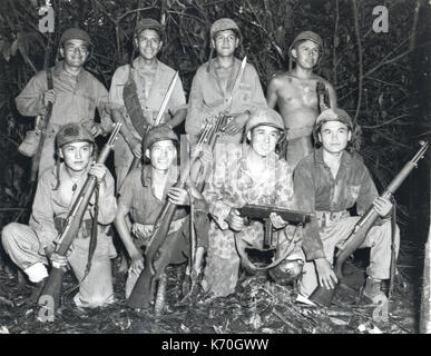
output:
{"label": "standing soldier with dark strap across chest, second from left in back", "polygon": [[[134,157],[141,157],[141,140],[148,125],[153,125],[168,91],[175,70],[157,59],[163,46],[163,27],[154,19],[138,21],[134,46],[139,56],[131,65],[119,67],[109,89],[111,108],[125,116],[125,125],[115,149],[115,168],[119,188],[129,171]],[[177,80],[166,106],[161,123],[174,128],[186,117],[186,98]],[[127,113],[127,115],[126,115]],[[112,116],[112,119],[115,117]]]}

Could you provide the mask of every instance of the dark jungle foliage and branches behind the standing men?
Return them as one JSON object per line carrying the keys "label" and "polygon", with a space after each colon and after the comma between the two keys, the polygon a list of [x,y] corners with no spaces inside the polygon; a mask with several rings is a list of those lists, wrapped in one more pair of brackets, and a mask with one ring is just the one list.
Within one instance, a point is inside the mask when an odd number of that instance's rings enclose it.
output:
{"label": "dark jungle foliage and branches behind the standing men", "polygon": [[[22,118],[13,98],[36,71],[52,66],[61,32],[86,29],[95,46],[87,68],[107,87],[115,69],[136,57],[136,21],[153,17],[166,28],[160,60],[179,70],[188,91],[196,68],[209,56],[210,23],[229,17],[242,29],[237,56],[247,56],[266,89],[274,72],[287,69],[286,50],[302,30],[325,41],[317,73],[336,88],[339,105],[362,126],[361,154],[379,189],[431,131],[427,38],[430,6],[424,0],[55,0],[55,32],[38,30],[41,0],[0,2],[0,196],[1,220],[20,219],[29,186],[28,159],[17,152],[33,121]],[[376,6],[385,6],[389,31],[373,31]],[[425,166],[425,165],[422,165]],[[402,205],[418,207],[417,185],[427,185],[420,168],[400,192]],[[423,177],[422,177],[423,176]],[[421,178],[422,177],[422,178]],[[423,199],[422,199],[423,200]],[[419,201],[422,201],[419,200]],[[4,210],[6,209],[6,210]],[[19,210],[13,210],[19,209]],[[27,211],[28,212],[28,211]],[[413,211],[414,215],[414,211]],[[428,215],[423,215],[427,217]],[[0,221],[0,226],[3,225]]]}

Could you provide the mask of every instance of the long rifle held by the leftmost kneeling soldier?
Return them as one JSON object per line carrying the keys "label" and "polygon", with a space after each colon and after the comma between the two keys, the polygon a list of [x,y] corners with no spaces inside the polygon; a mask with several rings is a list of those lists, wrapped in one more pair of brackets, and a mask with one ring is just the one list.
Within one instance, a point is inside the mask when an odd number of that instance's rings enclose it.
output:
{"label": "long rifle held by the leftmost kneeling soldier", "polygon": [[[114,144],[117,139],[119,129],[123,125],[123,121],[116,123],[109,140],[104,146],[97,162],[104,164],[109,156],[110,150],[114,148]],[[79,191],[78,198],[75,200],[71,210],[68,214],[65,226],[61,229],[57,238],[57,248],[56,253],[61,256],[66,256],[69,250],[75,237],[77,236],[79,228],[82,224],[82,218],[87,211],[88,202],[95,191],[97,185],[97,178],[92,175],[88,175],[81,190]],[[45,283],[42,293],[39,297],[39,306],[45,309],[53,309],[53,314],[58,309],[60,300],[60,291],[62,284],[62,276],[65,270],[62,268],[57,268],[52,266],[51,271]]]}

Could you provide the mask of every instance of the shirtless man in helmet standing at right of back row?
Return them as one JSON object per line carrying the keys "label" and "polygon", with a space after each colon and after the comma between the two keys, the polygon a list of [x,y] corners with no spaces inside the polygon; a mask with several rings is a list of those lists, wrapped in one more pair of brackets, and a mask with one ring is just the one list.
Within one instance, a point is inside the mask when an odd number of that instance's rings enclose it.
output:
{"label": "shirtless man in helmet standing at right of back row", "polygon": [[[312,31],[301,32],[288,49],[288,71],[275,75],[268,85],[266,100],[270,108],[278,106],[287,129],[286,160],[294,169],[298,161],[311,154],[311,134],[320,113],[316,85],[322,81],[329,91],[330,107],[336,107],[334,88],[313,73],[323,55],[322,38]],[[292,61],[296,62],[292,70]]]}

